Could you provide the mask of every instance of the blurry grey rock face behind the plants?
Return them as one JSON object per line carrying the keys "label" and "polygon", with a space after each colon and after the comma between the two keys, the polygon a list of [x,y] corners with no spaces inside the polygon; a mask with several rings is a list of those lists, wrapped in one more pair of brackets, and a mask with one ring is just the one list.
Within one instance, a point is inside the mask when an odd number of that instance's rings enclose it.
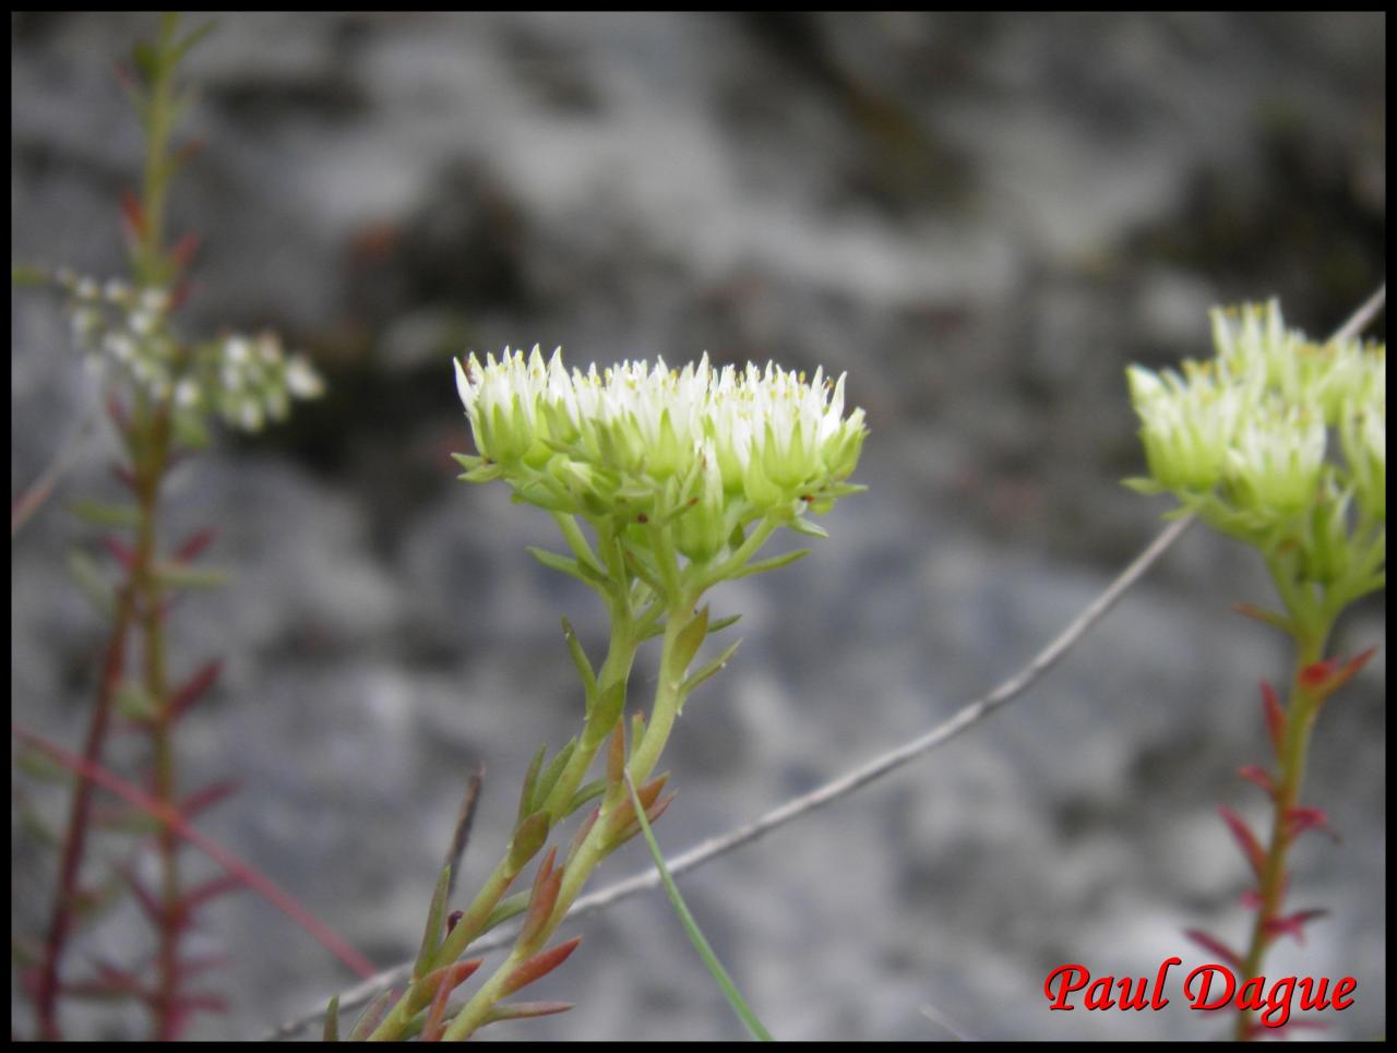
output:
{"label": "blurry grey rock face behind the plants", "polygon": [[[197,22],[197,20],[194,20]],[[113,77],[154,15],[11,15],[11,257],[123,270],[142,141]],[[200,825],[383,965],[409,958],[467,772],[489,768],[461,898],[502,850],[531,753],[580,698],[557,628],[602,610],[535,564],[542,513],[454,482],[450,359],[574,364],[707,351],[848,370],[869,493],[814,557],[721,589],[736,659],[686,711],[658,827],[678,853],[947,718],[1017,669],[1160,529],[1123,369],[1208,352],[1210,304],[1280,296],[1324,334],[1384,278],[1386,18],[1312,15],[231,14],[187,63],[203,154],[172,232],[203,237],[189,332],[272,327],[330,391],[172,479],[170,538],[212,522],[232,584],[190,596],[175,672],[226,658],[182,778],[243,789]],[[56,300],[11,297],[11,493],[96,405]],[[1375,335],[1383,335],[1379,323]],[[102,433],[11,550],[15,719],[74,746],[102,624],[63,573],[112,496]],[[916,765],[682,885],[787,1039],[1210,1038],[1162,1012],[1049,1012],[1046,973],[1153,976],[1180,934],[1243,941],[1246,869],[1217,818],[1268,761],[1257,679],[1288,654],[1235,601],[1253,556],[1189,532],[1071,656]],[[1379,601],[1336,648],[1384,642]],[[644,698],[652,656],[640,663]],[[1386,656],[1323,714],[1289,902],[1331,915],[1273,973],[1352,975],[1330,1036],[1386,1031]],[[119,743],[110,763],[138,758]],[[124,770],[130,771],[130,767]],[[38,795],[60,814],[56,797]],[[11,834],[11,919],[39,932],[54,856]],[[191,876],[212,866],[193,850]],[[645,869],[633,845],[594,887]],[[661,894],[567,926],[495,1036],[743,1032]],[[129,961],[141,919],[88,951]],[[194,944],[253,1038],[351,978],[253,895]],[[15,1028],[28,1031],[15,999]],[[74,1008],[75,1033],[142,1033]],[[124,1031],[130,1028],[130,1031]],[[314,1032],[312,1032],[314,1033]]]}

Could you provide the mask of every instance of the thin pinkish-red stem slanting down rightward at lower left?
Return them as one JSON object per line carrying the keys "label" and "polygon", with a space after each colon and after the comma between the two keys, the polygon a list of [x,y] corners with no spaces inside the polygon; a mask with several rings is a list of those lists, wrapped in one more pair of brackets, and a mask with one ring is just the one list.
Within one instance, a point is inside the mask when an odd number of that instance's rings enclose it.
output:
{"label": "thin pinkish-red stem slanting down rightward at lower left", "polygon": [[47,754],[63,767],[80,772],[89,782],[101,786],[102,789],[110,790],[129,804],[158,820],[177,837],[194,845],[194,848],[200,849],[204,855],[224,867],[224,870],[247,885],[247,888],[257,892],[267,902],[286,915],[286,918],[310,933],[327,951],[348,965],[349,969],[353,971],[353,973],[360,979],[369,979],[377,972],[367,958],[345,943],[344,938],[337,936],[324,922],[310,913],[310,911],[298,904],[296,899],[288,892],[282,891],[275,881],[251,864],[244,863],[212,838],[208,838],[194,830],[179,807],[155,799],[149,793],[133,786],[126,779],[113,775],[101,764],[68,753],[61,746],[56,746],[47,739],[25,730],[18,725],[11,725],[10,733],[21,742],[27,742]]}

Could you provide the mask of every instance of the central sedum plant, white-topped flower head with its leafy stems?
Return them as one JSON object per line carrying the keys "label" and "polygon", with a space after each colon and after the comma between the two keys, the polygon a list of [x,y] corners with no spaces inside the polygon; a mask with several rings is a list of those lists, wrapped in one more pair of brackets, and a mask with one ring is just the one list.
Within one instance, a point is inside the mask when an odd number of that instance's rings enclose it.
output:
{"label": "central sedum plant, white-topped flower head with its leafy stems", "polygon": [[[506,352],[500,362],[471,356],[457,364],[457,390],[476,446],[476,454],[455,455],[461,478],[504,479],[517,500],[553,515],[570,554],[531,553],[598,594],[610,642],[594,672],[563,620],[583,682],[583,729],[546,767],[545,751],[535,757],[504,857],[440,941],[444,908],[433,899],[412,985],[377,1019],[373,1039],[418,1031],[465,1039],[500,1019],[567,1008],[504,1000],[573,954],[580,937],[552,940],[588,877],[640,832],[641,817],[654,823],[673,800],[661,796],[668,775],[652,776],[675,721],[735,649],[690,675],[707,637],[733,620],[711,620],[708,606],[698,606],[703,595],[719,581],[793,561],[754,557],[780,526],[823,536],[806,514],[863,489],[845,482],[866,432],[863,412],[845,418],[842,377],[831,384],[820,371],[807,384],[775,366],[714,370],[705,356],[683,370],[659,362],[569,373],[559,353],[545,362],[535,348],[528,358]],[[655,694],[627,736],[627,682],[638,648],[654,635],[661,637]],[[604,778],[583,785],[604,747]],[[636,800],[629,782],[638,788]],[[553,830],[588,806],[562,860],[549,849],[531,888],[506,898]],[[441,969],[520,913],[524,923],[506,959],[447,1021]]]}

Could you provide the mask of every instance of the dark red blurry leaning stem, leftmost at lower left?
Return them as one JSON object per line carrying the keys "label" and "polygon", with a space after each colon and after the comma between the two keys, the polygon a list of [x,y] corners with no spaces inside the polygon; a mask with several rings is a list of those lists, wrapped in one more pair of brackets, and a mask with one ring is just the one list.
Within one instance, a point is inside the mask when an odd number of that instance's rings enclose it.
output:
{"label": "dark red blurry leaning stem, leftmost at lower left", "polygon": [[82,747],[84,767],[74,767],[77,785],[73,789],[73,806],[68,810],[68,824],[63,834],[63,853],[59,860],[59,890],[53,898],[53,916],[49,922],[49,937],[43,947],[43,964],[35,993],[35,1010],[39,1022],[41,1040],[61,1039],[59,1029],[59,966],[63,948],[73,929],[73,902],[78,892],[78,870],[87,848],[87,831],[92,814],[94,782],[85,774],[88,767],[96,767],[102,760],[106,742],[112,700],[122,683],[126,669],[126,640],[134,616],[134,598],[130,585],[123,585],[117,595],[116,620],[108,640],[106,656],[102,659],[102,680],[98,687],[96,705],[88,725],[87,742]]}

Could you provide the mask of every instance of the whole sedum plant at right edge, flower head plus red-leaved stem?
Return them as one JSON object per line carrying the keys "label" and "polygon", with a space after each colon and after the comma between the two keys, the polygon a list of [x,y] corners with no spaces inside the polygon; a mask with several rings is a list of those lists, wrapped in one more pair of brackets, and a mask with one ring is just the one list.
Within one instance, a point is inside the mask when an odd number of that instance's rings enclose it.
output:
{"label": "whole sedum plant at right edge, flower head plus red-leaved stem", "polygon": [[[1281,609],[1242,610],[1295,644],[1285,704],[1261,684],[1277,770],[1242,770],[1271,797],[1266,842],[1221,810],[1256,877],[1243,898],[1256,912],[1246,951],[1189,932],[1246,983],[1263,973],[1277,938],[1303,941],[1303,926],[1324,913],[1285,913],[1287,859],[1305,830],[1326,823],[1322,811],[1299,803],[1315,722],[1373,654],[1324,659],[1340,614],[1386,585],[1386,346],[1350,338],[1312,344],[1285,328],[1275,303],[1215,311],[1214,342],[1217,356],[1185,362],[1182,374],[1130,370],[1150,476],[1126,483],[1171,492],[1180,511],[1257,549]],[[1239,1040],[1266,1031],[1252,1010],[1239,1008]]]}

